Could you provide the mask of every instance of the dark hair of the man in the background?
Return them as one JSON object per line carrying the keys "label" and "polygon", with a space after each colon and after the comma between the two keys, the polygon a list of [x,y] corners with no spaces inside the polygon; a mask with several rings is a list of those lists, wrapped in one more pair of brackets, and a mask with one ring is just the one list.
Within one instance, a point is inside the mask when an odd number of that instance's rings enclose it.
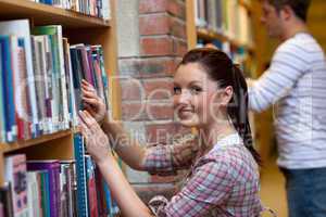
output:
{"label": "dark hair of the man in the background", "polygon": [[269,4],[275,7],[277,11],[280,11],[285,5],[289,5],[297,17],[306,22],[308,9],[311,0],[267,0]]}

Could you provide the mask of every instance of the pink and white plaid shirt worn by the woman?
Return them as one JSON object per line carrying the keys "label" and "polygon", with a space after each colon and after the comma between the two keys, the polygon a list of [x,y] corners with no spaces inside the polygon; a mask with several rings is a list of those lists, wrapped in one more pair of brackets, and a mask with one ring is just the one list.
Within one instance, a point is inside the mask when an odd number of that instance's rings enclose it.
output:
{"label": "pink and white plaid shirt worn by the woman", "polygon": [[259,199],[259,169],[238,135],[231,135],[206,154],[190,142],[149,148],[145,167],[150,173],[190,168],[181,190],[168,202],[155,196],[149,207],[158,217],[255,217],[263,210]]}

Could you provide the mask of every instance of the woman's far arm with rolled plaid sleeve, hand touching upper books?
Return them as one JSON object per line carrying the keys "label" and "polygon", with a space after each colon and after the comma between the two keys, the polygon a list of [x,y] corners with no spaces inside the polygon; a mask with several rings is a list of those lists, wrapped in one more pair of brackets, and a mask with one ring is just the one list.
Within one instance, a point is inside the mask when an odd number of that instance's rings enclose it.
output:
{"label": "woman's far arm with rolled plaid sleeve, hand touching upper books", "polygon": [[103,100],[86,80],[82,82],[82,91],[86,111],[98,123],[101,123],[114,151],[131,168],[150,173],[171,173],[191,165],[197,148],[189,142],[189,139],[173,145],[148,148],[148,145],[139,144],[123,129],[120,122],[109,118]]}

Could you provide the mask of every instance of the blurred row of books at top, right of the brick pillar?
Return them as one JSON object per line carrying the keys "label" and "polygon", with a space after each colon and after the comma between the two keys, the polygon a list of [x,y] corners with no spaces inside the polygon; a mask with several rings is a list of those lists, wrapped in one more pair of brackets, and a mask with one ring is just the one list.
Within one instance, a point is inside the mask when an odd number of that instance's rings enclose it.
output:
{"label": "blurred row of books at top, right of the brick pillar", "polygon": [[196,25],[244,44],[252,43],[250,12],[239,0],[193,0]]}

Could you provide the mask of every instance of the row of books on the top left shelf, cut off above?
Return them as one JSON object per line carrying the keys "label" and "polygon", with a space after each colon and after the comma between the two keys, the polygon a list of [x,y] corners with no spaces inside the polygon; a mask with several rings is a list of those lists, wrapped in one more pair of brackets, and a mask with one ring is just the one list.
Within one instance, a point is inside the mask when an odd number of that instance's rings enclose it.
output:
{"label": "row of books on the top left shelf, cut off above", "polygon": [[111,18],[110,0],[30,0],[103,20]]}

